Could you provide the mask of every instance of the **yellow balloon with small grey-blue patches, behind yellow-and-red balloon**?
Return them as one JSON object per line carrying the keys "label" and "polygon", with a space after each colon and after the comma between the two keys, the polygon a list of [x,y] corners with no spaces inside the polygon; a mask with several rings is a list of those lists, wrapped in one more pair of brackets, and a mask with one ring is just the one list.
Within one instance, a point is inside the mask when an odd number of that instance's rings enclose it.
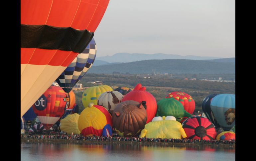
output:
{"label": "yellow balloon with small grey-blue patches, behind yellow-and-red balloon", "polygon": [[93,103],[97,105],[97,100],[99,96],[108,91],[113,91],[113,89],[107,85],[100,85],[100,86],[93,86],[86,89],[82,95],[82,103],[83,106],[86,108],[89,103]]}

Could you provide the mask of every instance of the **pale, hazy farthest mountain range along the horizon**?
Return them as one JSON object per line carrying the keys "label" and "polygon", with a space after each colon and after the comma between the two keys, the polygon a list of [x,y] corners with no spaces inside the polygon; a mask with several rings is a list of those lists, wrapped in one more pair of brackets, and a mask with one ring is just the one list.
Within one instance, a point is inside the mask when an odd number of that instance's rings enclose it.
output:
{"label": "pale, hazy farthest mountain range along the horizon", "polygon": [[97,57],[96,60],[103,60],[110,63],[113,62],[133,62],[133,61],[140,61],[140,60],[154,60],[154,59],[190,59],[190,60],[206,60],[206,59],[218,59],[220,57],[209,57],[209,56],[181,56],[181,55],[174,55],[174,54],[139,54],[139,53],[116,53],[112,56],[101,56]]}

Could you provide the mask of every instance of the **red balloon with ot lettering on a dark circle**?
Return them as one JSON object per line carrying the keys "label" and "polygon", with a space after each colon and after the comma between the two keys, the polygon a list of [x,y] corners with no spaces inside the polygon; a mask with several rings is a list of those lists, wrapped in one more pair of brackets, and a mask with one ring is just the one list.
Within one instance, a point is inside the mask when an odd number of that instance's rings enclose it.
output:
{"label": "red balloon with ot lettering on a dark circle", "polygon": [[37,118],[49,130],[64,114],[65,92],[59,86],[50,86],[32,106]]}

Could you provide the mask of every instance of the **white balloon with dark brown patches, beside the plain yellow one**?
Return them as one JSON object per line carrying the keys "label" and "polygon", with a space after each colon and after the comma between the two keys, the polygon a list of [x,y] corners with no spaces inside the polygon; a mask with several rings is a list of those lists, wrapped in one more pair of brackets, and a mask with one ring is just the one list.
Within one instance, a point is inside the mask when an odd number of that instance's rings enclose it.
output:
{"label": "white balloon with dark brown patches, beside the plain yellow one", "polygon": [[117,91],[104,92],[99,96],[97,104],[113,111],[123,98],[124,96]]}

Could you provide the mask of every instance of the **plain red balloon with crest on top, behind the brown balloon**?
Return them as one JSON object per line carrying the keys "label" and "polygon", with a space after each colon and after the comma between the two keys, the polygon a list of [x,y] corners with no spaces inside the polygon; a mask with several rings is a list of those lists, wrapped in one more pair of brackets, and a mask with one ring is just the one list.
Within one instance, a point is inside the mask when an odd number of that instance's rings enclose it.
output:
{"label": "plain red balloon with crest on top, behind the brown balloon", "polygon": [[141,87],[141,84],[137,84],[133,91],[124,96],[122,102],[129,100],[137,102],[146,101],[147,123],[155,117],[157,102],[155,97],[146,91],[146,87]]}

